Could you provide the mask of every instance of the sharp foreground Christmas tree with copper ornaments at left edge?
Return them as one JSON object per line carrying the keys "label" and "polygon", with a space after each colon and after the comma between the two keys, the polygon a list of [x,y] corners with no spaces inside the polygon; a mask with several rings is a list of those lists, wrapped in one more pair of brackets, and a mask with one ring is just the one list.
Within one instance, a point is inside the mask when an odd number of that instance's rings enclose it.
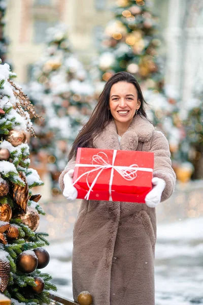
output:
{"label": "sharp foreground Christmas tree with copper ornaments at left edge", "polygon": [[0,292],[13,304],[49,304],[51,277],[41,272],[49,262],[43,248],[47,233],[36,231],[44,211],[40,194],[31,188],[43,185],[29,168],[27,134],[35,135],[29,114],[39,118],[8,64],[0,65]]}

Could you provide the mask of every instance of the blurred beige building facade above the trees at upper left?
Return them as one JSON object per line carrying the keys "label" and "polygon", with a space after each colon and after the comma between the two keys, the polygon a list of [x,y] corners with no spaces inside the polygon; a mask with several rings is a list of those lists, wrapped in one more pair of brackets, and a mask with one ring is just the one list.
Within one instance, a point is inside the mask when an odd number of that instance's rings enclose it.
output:
{"label": "blurred beige building facade above the trees at upper left", "polygon": [[43,54],[46,29],[58,21],[67,24],[70,41],[79,58],[88,64],[96,54],[98,37],[111,19],[115,0],[8,0],[6,33],[8,58],[26,82],[29,67]]}

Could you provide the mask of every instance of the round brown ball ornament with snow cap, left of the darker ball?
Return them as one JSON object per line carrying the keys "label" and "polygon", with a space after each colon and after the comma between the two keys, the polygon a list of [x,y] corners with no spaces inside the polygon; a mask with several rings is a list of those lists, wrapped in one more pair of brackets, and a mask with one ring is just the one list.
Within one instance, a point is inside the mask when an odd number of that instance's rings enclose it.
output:
{"label": "round brown ball ornament with snow cap, left of the darker ball", "polygon": [[38,258],[35,252],[31,250],[23,251],[20,253],[16,260],[18,270],[23,273],[31,273],[35,271],[38,266]]}

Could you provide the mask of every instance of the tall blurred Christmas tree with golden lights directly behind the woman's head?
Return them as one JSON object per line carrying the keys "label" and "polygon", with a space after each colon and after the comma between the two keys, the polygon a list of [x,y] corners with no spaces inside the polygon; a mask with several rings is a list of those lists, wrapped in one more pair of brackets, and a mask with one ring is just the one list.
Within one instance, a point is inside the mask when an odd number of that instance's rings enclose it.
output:
{"label": "tall blurred Christmas tree with golden lights directly behind the woman's head", "polygon": [[164,85],[163,60],[159,54],[161,37],[158,17],[153,14],[152,1],[117,0],[114,18],[107,24],[101,38],[100,55],[91,70],[96,97],[112,74],[127,71],[142,87],[149,119],[170,143],[172,159],[183,162],[178,154],[185,137],[179,117],[178,95]]}

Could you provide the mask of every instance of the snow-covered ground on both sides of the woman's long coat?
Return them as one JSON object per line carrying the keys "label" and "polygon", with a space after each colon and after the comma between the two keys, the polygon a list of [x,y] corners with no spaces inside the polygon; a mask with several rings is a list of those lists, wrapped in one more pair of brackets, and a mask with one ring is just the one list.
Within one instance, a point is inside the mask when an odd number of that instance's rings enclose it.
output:
{"label": "snow-covered ground on both sides of the woman's long coat", "polygon": [[[52,242],[49,272],[57,294],[73,299],[72,240]],[[156,305],[203,304],[203,218],[158,224],[155,253]]]}

